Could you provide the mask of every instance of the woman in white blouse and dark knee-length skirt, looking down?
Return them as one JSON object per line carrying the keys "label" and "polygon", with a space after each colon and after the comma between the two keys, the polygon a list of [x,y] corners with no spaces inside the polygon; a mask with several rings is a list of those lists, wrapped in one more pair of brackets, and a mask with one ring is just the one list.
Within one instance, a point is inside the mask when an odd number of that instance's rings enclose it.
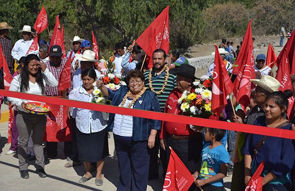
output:
{"label": "woman in white blouse and dark knee-length skirt, looking down", "polygon": [[[69,99],[91,102],[93,99],[93,83],[96,80],[94,69],[82,71],[81,78],[83,85],[73,89]],[[73,110],[76,116],[76,136],[79,159],[84,161],[86,173],[80,178],[79,183],[85,183],[92,178],[91,162],[96,162],[95,184],[101,186],[103,175],[101,174],[104,159],[109,156],[107,122],[102,118],[99,111],[77,108]]]}

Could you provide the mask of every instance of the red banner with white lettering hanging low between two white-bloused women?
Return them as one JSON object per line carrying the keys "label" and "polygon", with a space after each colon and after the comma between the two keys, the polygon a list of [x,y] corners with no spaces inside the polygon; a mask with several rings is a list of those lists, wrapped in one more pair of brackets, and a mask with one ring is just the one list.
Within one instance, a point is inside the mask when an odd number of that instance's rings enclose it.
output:
{"label": "red banner with white lettering hanging low between two white-bloused women", "polygon": [[71,120],[67,116],[67,106],[48,104],[51,112],[47,116],[43,140],[49,142],[71,141]]}

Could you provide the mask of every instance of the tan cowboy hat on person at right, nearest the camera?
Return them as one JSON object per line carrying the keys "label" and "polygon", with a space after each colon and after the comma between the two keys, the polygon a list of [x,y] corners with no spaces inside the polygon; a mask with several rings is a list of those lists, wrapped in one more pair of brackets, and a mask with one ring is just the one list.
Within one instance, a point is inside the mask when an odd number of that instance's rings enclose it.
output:
{"label": "tan cowboy hat on person at right, nearest the camera", "polygon": [[277,79],[269,75],[263,75],[261,79],[251,79],[250,81],[269,93],[278,91],[281,85]]}

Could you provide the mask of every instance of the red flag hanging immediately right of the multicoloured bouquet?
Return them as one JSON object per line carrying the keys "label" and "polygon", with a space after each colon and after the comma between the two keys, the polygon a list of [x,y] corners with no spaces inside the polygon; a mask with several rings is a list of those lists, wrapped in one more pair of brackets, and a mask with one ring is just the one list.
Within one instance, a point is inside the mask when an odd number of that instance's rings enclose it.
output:
{"label": "red flag hanging immediately right of the multicoloured bouquet", "polygon": [[226,96],[231,94],[233,89],[234,86],[229,73],[223,64],[218,47],[215,45],[211,111],[216,112],[217,116],[227,105]]}

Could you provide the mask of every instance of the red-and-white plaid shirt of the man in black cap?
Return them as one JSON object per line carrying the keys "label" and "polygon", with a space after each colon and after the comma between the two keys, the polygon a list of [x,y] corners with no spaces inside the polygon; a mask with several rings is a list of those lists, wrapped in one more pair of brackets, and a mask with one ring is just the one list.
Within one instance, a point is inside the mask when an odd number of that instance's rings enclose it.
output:
{"label": "red-and-white plaid shirt of the man in black cap", "polygon": [[[61,72],[62,68],[64,67],[64,65],[66,64],[66,60],[67,59],[62,59],[61,60],[61,63],[60,63],[60,67],[59,68],[57,68],[56,66],[54,66],[54,64],[50,63],[50,60],[45,63],[46,67],[49,69],[49,71],[54,75],[54,77],[58,81],[59,81],[60,72]],[[75,70],[71,66],[71,81],[73,81],[74,73],[75,73]],[[51,87],[51,86],[47,86],[46,85],[45,94],[46,94],[46,96],[60,96],[58,89],[59,89],[58,86]]]}

